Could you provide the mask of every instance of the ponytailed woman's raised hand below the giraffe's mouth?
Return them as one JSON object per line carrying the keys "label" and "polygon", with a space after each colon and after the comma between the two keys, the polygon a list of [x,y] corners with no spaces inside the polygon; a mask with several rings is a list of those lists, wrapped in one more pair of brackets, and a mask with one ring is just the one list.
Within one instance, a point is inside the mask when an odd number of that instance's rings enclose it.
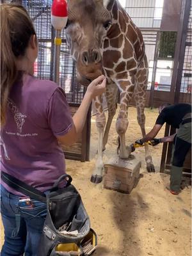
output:
{"label": "ponytailed woman's raised hand below the giraffe's mouth", "polygon": [[106,91],[106,77],[99,76],[90,83],[86,93],[90,94],[92,98],[97,97]]}

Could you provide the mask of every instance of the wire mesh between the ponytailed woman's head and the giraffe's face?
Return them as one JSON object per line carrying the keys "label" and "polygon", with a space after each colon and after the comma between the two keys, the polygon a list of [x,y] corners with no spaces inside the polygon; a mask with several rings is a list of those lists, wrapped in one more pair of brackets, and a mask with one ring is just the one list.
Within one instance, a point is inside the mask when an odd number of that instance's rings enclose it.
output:
{"label": "wire mesh between the ponytailed woman's head and the giraffe's face", "polygon": [[[52,0],[15,0],[1,1],[1,3],[19,3],[28,11],[38,37],[38,58],[34,64],[34,75],[40,79],[52,80],[55,35],[51,26]],[[76,64],[70,56],[64,29],[61,32],[61,38],[59,86],[65,90],[69,103],[80,104],[84,95],[84,87],[77,83]]]}

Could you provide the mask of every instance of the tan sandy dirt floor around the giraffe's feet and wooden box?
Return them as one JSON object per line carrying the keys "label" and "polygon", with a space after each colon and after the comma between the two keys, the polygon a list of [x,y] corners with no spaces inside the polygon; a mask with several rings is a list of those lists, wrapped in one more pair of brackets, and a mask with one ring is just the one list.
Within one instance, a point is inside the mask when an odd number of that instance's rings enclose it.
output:
{"label": "tan sandy dirt floor around the giraffe's feet and wooden box", "polygon": [[[156,122],[157,109],[145,110],[146,131]],[[107,113],[106,113],[107,115]],[[109,132],[104,163],[116,152],[115,120]],[[162,137],[164,130],[157,137]],[[126,144],[141,138],[136,119],[136,109],[129,108],[129,128]],[[147,173],[145,150],[133,153],[141,159],[143,174],[138,186],[130,195],[92,184],[90,177],[95,166],[97,129],[92,118],[90,162],[67,160],[67,173],[81,193],[84,206],[90,216],[92,228],[97,232],[98,248],[94,256],[191,256],[191,187],[184,188],[177,196],[166,189],[169,175],[159,173],[163,145],[150,147],[156,173]],[[1,232],[3,241],[3,232]]]}

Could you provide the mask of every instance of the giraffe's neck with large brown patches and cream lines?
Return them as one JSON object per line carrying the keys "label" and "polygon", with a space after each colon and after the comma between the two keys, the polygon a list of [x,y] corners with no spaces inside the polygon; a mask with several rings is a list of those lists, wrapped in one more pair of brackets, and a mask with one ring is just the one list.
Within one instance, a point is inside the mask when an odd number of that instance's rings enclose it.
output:
{"label": "giraffe's neck with large brown patches and cream lines", "polygon": [[118,0],[108,3],[112,25],[102,42],[102,60],[106,76],[109,79],[125,79],[127,72],[136,74],[138,66],[145,56],[145,47],[141,31],[134,25]]}

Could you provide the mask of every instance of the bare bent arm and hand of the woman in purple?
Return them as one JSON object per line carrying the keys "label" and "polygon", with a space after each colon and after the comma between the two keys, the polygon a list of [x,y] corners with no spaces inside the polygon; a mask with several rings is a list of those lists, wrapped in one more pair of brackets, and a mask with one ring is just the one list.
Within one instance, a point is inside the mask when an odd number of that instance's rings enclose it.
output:
{"label": "bare bent arm and hand of the woman in purple", "polygon": [[92,102],[94,97],[101,95],[105,92],[106,88],[106,78],[104,76],[99,76],[95,80],[90,83],[88,86],[84,98],[81,102],[81,105],[77,109],[77,112],[73,116],[73,124],[70,131],[63,136],[58,136],[58,141],[60,141],[63,145],[72,145],[81,134],[84,123],[86,121],[86,116],[88,113],[88,109],[90,103]]}

